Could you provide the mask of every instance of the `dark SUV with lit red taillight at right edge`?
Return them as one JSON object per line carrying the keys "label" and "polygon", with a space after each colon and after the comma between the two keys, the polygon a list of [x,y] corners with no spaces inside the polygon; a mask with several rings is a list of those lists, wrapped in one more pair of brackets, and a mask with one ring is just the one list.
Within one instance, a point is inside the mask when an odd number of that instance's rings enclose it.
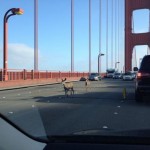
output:
{"label": "dark SUV with lit red taillight at right edge", "polygon": [[135,100],[143,101],[143,95],[150,94],[150,55],[144,56],[136,75]]}

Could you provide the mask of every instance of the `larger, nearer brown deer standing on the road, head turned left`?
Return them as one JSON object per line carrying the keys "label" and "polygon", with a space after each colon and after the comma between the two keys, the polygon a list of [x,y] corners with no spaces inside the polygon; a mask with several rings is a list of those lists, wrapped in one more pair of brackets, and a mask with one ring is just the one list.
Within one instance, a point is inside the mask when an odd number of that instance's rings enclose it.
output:
{"label": "larger, nearer brown deer standing on the road, head turned left", "polygon": [[73,89],[73,83],[72,82],[66,82],[66,78],[63,80],[62,79],[62,85],[64,86],[65,90],[65,95],[68,97],[68,91],[71,91],[71,95],[74,94],[74,89]]}

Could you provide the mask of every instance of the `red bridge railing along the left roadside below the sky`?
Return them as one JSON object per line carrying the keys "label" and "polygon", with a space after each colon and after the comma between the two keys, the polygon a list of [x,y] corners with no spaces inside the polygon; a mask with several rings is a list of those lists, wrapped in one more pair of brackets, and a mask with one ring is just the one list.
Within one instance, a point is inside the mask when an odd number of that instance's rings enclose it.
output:
{"label": "red bridge railing along the left roadside below the sky", "polygon": [[[34,71],[34,70],[7,70],[8,81],[29,79],[62,79],[72,77],[88,77],[87,72],[61,72],[61,71]],[[4,80],[4,70],[0,69],[0,81]]]}

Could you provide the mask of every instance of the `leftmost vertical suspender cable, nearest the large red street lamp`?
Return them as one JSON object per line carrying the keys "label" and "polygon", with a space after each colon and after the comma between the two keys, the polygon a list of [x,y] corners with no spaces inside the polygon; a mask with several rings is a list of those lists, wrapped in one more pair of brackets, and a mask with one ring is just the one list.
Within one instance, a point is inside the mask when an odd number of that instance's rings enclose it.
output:
{"label": "leftmost vertical suspender cable, nearest the large red street lamp", "polygon": [[34,0],[34,70],[38,70],[38,0]]}

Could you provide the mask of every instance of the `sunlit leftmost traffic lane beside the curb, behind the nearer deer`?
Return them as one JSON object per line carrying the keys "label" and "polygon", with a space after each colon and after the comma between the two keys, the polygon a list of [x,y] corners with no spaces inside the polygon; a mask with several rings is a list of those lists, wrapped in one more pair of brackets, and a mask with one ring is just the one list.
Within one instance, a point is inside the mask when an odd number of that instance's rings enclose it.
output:
{"label": "sunlit leftmost traffic lane beside the curb, behind the nearer deer", "polygon": [[[89,91],[91,92],[96,89],[96,87],[111,87],[114,86],[114,83],[116,86],[120,84],[120,81],[113,82],[111,80],[103,80],[99,82],[91,82],[89,86]],[[120,86],[120,85],[119,85]],[[127,86],[127,85],[125,85]],[[75,93],[77,92],[85,92],[85,82],[74,82],[74,90]],[[32,97],[35,96],[48,96],[48,95],[61,95],[64,94],[64,89],[62,84],[53,84],[53,85],[46,85],[46,86],[35,86],[35,87],[29,87],[29,88],[21,88],[21,89],[15,89],[15,90],[6,90],[6,91],[0,91],[0,101],[5,100],[21,100],[21,99],[32,99]]]}

